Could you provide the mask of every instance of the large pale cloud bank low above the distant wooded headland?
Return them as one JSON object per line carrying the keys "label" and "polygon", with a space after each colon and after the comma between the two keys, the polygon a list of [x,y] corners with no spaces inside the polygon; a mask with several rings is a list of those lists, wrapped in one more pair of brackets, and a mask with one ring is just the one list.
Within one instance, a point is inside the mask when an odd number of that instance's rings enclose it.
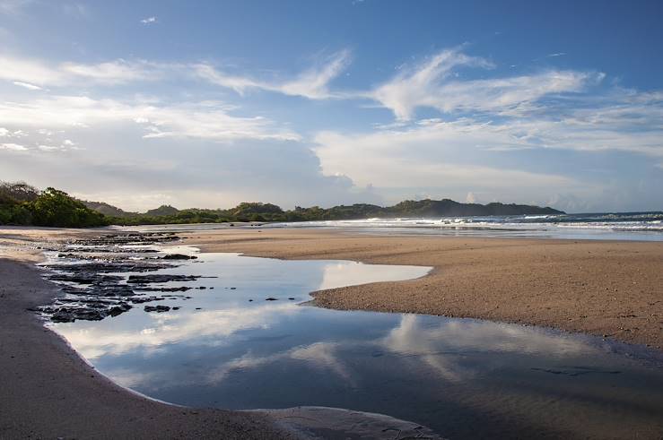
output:
{"label": "large pale cloud bank low above the distant wooded headland", "polygon": [[462,200],[473,188],[487,200],[504,200],[503,194],[509,194],[510,201],[543,203],[554,193],[589,187],[559,173],[486,163],[476,154],[477,147],[514,139],[502,127],[469,121],[429,122],[372,134],[322,132],[315,140],[327,176],[341,173],[356,185],[371,183],[382,194],[391,194],[390,202],[422,192]]}

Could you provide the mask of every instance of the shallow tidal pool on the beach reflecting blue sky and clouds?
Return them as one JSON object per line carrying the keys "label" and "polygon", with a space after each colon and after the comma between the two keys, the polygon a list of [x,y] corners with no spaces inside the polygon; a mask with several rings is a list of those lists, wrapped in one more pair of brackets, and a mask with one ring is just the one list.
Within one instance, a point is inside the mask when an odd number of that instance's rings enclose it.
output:
{"label": "shallow tidal pool on the beach reflecting blue sky and clouds", "polygon": [[364,410],[451,438],[663,433],[657,353],[536,327],[298,305],[310,291],[428,268],[198,256],[154,272],[218,277],[169,283],[206,288],[154,303],[179,310],[136,306],[53,328],[119,384],[183,405]]}

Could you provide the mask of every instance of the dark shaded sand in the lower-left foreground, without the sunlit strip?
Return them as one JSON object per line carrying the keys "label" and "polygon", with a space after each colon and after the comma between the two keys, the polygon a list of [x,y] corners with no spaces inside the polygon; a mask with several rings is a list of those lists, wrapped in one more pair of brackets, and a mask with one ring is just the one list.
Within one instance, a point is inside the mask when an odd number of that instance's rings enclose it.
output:
{"label": "dark shaded sand in the lower-left foreground, without the sunlit strip", "polygon": [[57,295],[32,263],[0,259],[0,437],[295,438],[264,414],[175,406],[101,375],[26,310]]}

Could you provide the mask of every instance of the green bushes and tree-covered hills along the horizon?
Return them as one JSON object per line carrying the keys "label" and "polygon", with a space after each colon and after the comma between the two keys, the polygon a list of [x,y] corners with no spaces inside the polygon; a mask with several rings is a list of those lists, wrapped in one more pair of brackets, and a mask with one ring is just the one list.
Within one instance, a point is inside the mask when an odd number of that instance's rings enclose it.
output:
{"label": "green bushes and tree-covered hills along the horizon", "polygon": [[549,207],[505,203],[458,203],[453,200],[407,200],[393,206],[368,203],[331,208],[296,206],[283,210],[273,203],[240,203],[230,209],[179,210],[170,205],[140,212],[123,211],[109,203],[80,201],[55,188],[39,191],[23,182],[0,182],[0,224],[86,228],[104,225],[227,223],[244,221],[359,220],[374,217],[465,217],[545,215],[562,211]]}

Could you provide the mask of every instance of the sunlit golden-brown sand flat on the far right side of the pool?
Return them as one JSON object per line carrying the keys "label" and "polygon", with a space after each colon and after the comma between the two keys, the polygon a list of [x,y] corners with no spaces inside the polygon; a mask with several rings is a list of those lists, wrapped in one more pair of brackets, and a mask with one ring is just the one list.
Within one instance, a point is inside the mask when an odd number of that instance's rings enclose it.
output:
{"label": "sunlit golden-brown sand flat on the far right side of the pool", "polygon": [[203,252],[434,268],[419,280],[317,292],[318,306],[535,324],[663,349],[663,243],[376,237],[329,229],[182,236]]}

